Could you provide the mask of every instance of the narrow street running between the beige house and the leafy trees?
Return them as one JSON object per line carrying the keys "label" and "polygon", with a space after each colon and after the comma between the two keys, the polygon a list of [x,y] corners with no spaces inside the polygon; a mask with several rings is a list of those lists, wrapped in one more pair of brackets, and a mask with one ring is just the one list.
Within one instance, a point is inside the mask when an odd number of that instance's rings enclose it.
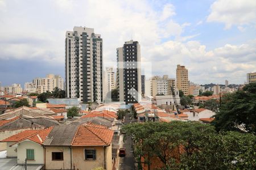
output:
{"label": "narrow street running between the beige house and the leafy trees", "polygon": [[[130,124],[129,114],[125,116],[124,124]],[[120,170],[131,170],[135,169],[134,166],[134,158],[133,158],[133,151],[131,148],[131,137],[127,137],[125,142],[123,142],[123,147],[126,148],[126,156],[120,157],[119,162],[119,169]]]}

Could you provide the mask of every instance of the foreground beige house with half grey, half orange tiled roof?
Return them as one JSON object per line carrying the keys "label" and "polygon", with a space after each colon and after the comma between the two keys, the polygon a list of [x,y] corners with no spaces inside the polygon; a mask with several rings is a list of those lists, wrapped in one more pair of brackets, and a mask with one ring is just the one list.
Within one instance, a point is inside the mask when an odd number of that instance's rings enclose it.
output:
{"label": "foreground beige house with half grey, half orange tiled roof", "polygon": [[44,141],[46,169],[112,169],[113,131],[100,125],[56,126]]}

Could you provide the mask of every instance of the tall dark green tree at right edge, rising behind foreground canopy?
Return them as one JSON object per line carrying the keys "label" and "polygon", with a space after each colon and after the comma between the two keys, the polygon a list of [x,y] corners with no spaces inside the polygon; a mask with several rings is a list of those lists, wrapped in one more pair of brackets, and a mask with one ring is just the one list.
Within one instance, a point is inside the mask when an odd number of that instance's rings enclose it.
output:
{"label": "tall dark green tree at right edge, rising behind foreground canopy", "polygon": [[256,83],[246,85],[243,90],[225,96],[220,112],[212,124],[218,131],[237,130],[256,133]]}

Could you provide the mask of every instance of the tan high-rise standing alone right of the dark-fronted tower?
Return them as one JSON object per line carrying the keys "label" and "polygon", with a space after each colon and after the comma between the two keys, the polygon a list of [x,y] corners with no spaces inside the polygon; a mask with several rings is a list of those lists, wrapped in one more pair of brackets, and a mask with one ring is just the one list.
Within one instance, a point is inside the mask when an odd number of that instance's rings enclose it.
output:
{"label": "tan high-rise standing alone right of the dark-fronted tower", "polygon": [[188,95],[188,70],[185,66],[177,65],[176,69],[176,82],[177,89],[184,92],[184,95]]}

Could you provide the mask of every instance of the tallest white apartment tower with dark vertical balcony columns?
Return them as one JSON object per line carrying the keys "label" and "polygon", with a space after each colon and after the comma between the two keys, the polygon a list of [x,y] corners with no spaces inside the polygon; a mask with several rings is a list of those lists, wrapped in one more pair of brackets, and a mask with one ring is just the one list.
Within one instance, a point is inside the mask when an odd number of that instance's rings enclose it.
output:
{"label": "tallest white apartment tower with dark vertical balcony columns", "polygon": [[93,28],[66,32],[65,78],[68,98],[102,103],[102,39]]}

